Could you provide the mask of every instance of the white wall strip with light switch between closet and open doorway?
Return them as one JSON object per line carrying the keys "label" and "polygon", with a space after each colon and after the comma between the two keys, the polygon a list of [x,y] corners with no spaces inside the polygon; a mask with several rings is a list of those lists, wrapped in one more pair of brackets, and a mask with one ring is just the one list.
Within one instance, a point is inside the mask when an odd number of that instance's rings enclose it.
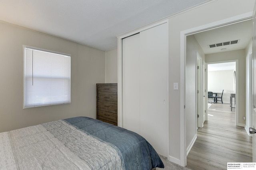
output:
{"label": "white wall strip with light switch between closet and open doorway", "polygon": [[[173,90],[172,84],[180,82],[180,32],[225,20],[240,14],[252,12],[254,0],[217,0],[188,10],[169,19],[169,154],[171,160],[180,157],[180,90]],[[232,5],[230,5],[232,4]],[[218,11],[218,12],[216,12]],[[232,11],[232,12],[230,12]],[[241,108],[241,107],[240,107]]]}

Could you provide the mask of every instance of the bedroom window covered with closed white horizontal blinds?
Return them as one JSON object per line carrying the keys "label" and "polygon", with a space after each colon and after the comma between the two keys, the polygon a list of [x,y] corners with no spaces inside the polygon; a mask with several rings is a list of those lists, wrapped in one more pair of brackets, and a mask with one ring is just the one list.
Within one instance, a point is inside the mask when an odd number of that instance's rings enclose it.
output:
{"label": "bedroom window covered with closed white horizontal blinds", "polygon": [[24,108],[70,103],[70,58],[24,46]]}

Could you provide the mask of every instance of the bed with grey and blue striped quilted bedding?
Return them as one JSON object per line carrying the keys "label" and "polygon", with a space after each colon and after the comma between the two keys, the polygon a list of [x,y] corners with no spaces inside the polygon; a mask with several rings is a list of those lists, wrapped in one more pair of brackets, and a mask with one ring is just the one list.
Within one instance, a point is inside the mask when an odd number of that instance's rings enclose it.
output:
{"label": "bed with grey and blue striped quilted bedding", "polygon": [[89,117],[0,133],[0,170],[151,170],[164,168],[143,137]]}

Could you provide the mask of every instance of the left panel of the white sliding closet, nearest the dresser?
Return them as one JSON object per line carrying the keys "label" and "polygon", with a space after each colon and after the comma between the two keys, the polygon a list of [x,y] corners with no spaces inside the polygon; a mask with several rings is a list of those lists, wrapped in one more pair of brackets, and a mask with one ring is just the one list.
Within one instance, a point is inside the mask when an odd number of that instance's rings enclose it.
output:
{"label": "left panel of the white sliding closet, nearest the dresser", "polygon": [[140,34],[123,39],[123,127],[140,134]]}

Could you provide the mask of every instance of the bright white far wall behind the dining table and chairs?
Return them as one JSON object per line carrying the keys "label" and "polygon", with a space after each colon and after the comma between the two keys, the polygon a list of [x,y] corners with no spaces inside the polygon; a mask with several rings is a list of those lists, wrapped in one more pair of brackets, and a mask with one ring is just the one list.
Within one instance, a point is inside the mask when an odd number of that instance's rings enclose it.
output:
{"label": "bright white far wall behind the dining table and chairs", "polygon": [[223,103],[230,103],[230,93],[236,93],[233,72],[234,70],[208,71],[208,92],[219,92],[218,96],[221,96],[224,90]]}

